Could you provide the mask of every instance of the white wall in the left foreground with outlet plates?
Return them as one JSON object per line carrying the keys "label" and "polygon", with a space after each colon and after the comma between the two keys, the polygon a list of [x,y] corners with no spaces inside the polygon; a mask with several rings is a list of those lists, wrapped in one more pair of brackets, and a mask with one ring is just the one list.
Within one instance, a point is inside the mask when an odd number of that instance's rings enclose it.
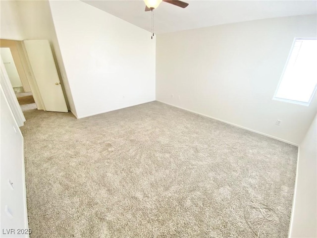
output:
{"label": "white wall in the left foreground with outlet plates", "polygon": [[[28,229],[23,137],[1,85],[0,108],[1,237],[29,237],[17,235],[17,229]],[[15,229],[16,235],[4,235],[8,234],[6,229]]]}

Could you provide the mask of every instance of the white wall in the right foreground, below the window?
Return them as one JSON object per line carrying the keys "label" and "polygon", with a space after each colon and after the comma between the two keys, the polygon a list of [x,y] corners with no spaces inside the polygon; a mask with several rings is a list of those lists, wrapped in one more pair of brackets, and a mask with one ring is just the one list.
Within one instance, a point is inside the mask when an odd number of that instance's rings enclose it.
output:
{"label": "white wall in the right foreground, below the window", "polygon": [[317,116],[299,147],[289,237],[317,237]]}

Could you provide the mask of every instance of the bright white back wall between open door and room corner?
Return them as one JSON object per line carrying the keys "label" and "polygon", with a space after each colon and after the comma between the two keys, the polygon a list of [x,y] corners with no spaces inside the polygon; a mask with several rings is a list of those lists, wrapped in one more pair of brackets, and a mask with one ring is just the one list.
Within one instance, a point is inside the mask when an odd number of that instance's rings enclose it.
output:
{"label": "bright white back wall between open door and room corner", "polygon": [[50,1],[77,117],[155,100],[155,40],[82,1]]}

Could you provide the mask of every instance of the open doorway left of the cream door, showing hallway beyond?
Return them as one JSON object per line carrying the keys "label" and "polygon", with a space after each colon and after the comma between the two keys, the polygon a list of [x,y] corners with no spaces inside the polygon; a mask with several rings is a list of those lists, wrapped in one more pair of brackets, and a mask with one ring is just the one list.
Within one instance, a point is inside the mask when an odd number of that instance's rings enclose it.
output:
{"label": "open doorway left of the cream door, showing hallway beyond", "polygon": [[9,47],[1,47],[0,55],[22,112],[37,109],[29,83],[22,83]]}

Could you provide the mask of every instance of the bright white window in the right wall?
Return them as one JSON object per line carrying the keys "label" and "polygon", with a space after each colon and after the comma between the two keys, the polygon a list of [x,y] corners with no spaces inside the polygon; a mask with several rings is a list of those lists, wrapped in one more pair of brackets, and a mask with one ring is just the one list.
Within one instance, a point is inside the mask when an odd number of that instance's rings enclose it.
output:
{"label": "bright white window in the right wall", "polygon": [[295,38],[274,98],[309,106],[317,88],[317,39]]}

